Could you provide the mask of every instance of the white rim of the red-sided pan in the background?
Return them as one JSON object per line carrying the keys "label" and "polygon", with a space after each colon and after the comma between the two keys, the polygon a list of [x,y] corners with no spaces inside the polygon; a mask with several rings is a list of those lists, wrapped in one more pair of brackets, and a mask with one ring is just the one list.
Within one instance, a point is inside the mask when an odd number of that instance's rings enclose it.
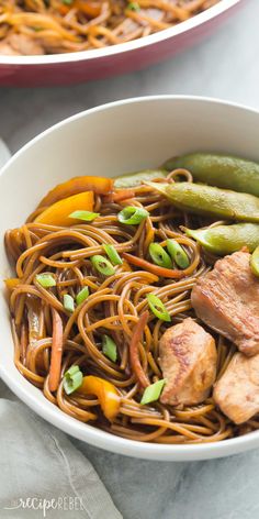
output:
{"label": "white rim of the red-sided pan in the background", "polygon": [[103,48],[89,49],[76,53],[66,54],[50,54],[44,56],[0,56],[1,65],[48,65],[55,63],[74,63],[90,60],[100,57],[113,56],[120,53],[126,53],[136,48],[147,47],[149,45],[169,40],[176,35],[184,33],[191,29],[194,29],[213,18],[222,14],[224,11],[236,5],[240,0],[221,0],[218,3],[205,11],[196,14],[189,20],[181,22],[172,27],[164,29],[150,36],[139,37],[127,43],[120,43],[117,45],[108,46]]}

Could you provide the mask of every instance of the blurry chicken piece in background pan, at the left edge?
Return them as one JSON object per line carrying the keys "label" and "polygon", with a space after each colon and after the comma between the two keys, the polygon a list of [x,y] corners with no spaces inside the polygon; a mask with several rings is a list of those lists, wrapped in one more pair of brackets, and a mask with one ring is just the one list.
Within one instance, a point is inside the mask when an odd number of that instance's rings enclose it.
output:
{"label": "blurry chicken piece in background pan, at the left edge", "polygon": [[32,37],[13,33],[5,41],[0,42],[0,54],[33,56],[44,54],[44,48]]}

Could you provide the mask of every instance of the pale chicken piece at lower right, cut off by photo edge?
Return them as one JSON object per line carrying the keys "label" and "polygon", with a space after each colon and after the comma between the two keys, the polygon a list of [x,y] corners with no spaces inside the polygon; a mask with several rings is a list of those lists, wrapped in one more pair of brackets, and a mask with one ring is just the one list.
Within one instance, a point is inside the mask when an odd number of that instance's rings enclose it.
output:
{"label": "pale chicken piece at lower right, cut off by photo edge", "polygon": [[215,384],[214,399],[235,423],[243,423],[259,412],[259,355],[236,353]]}

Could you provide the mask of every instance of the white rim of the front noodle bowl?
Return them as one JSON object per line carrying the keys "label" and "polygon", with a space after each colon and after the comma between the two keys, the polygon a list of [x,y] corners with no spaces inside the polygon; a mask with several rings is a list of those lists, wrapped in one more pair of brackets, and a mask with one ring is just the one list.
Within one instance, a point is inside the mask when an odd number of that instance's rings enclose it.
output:
{"label": "white rim of the front noodle bowl", "polygon": [[[40,141],[42,137],[50,134],[52,132],[58,130],[64,125],[70,124],[72,121],[78,120],[80,118],[85,118],[87,114],[92,114],[94,112],[104,111],[113,109],[114,107],[120,107],[123,104],[131,104],[131,103],[143,103],[143,102],[150,102],[150,101],[159,101],[159,100],[190,100],[190,101],[200,101],[204,103],[214,103],[219,106],[226,106],[232,108],[237,108],[244,112],[251,112],[259,117],[259,111],[254,110],[249,107],[245,107],[238,103],[222,101],[219,99],[206,98],[206,97],[196,97],[196,96],[147,96],[142,98],[132,98],[121,101],[111,102],[108,104],[103,104],[97,108],[92,108],[90,110],[86,110],[80,112],[76,115],[72,115],[54,126],[49,128],[45,132],[41,133],[27,144],[25,144],[9,162],[8,164],[1,169],[0,176],[5,173],[12,162],[16,161],[16,158],[26,153],[30,147],[34,146],[34,144]],[[156,444],[156,443],[142,443],[133,440],[125,440],[123,438],[113,435],[109,432],[104,432],[102,430],[95,429],[94,427],[89,427],[86,433],[86,424],[68,417],[66,413],[60,411],[54,405],[46,408],[38,409],[38,400],[35,395],[32,395],[27,387],[24,387],[19,383],[18,379],[13,379],[9,376],[8,369],[5,369],[2,365],[0,365],[0,376],[7,383],[7,385],[13,390],[18,397],[23,400],[26,405],[29,405],[35,412],[41,415],[47,421],[52,422],[54,426],[58,427],[59,429],[64,430],[68,434],[71,434],[78,439],[85,440],[88,443],[99,446],[101,449],[105,449],[112,452],[116,452],[124,455],[135,456],[135,457],[144,457],[150,460],[164,460],[164,461],[184,461],[184,457],[190,460],[202,460],[209,457],[221,457],[229,454],[235,454],[236,452],[243,452],[246,450],[250,450],[252,448],[258,446],[259,443],[259,431],[254,431],[243,437],[237,437],[228,440],[224,440],[222,442],[213,442],[213,443],[200,443],[200,444],[189,444],[189,445],[166,445],[166,444]],[[27,383],[30,384],[30,383]],[[86,438],[87,437],[87,438]]]}

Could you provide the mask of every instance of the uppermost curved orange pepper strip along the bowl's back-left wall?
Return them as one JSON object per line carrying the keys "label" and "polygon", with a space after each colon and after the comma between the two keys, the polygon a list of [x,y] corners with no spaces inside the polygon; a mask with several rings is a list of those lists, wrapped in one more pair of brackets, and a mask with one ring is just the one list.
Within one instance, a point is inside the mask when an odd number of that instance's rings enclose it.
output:
{"label": "uppermost curved orange pepper strip along the bowl's back-left wall", "polygon": [[64,184],[58,184],[38,203],[38,207],[48,207],[64,198],[83,191],[93,191],[97,195],[108,195],[112,191],[113,180],[103,177],[75,177]]}

